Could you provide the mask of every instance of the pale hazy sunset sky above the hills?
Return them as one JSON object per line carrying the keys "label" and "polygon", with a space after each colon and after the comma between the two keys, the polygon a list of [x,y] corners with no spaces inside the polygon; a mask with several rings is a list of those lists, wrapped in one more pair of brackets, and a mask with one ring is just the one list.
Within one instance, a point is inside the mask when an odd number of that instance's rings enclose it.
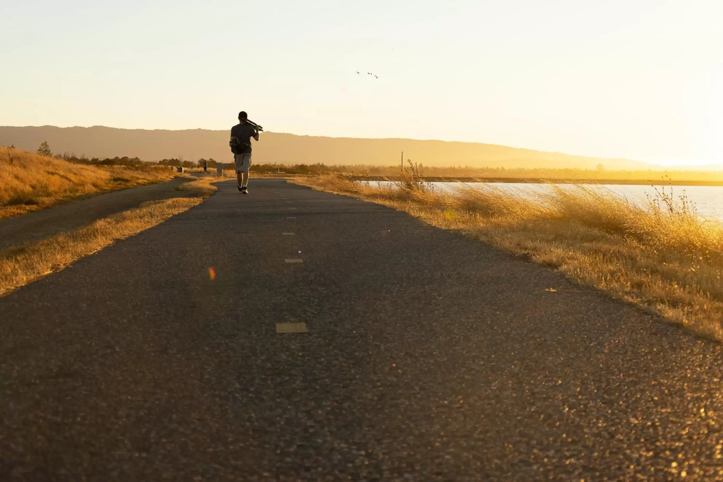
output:
{"label": "pale hazy sunset sky above the hills", "polygon": [[0,125],[228,129],[243,109],[273,132],[723,162],[721,0],[0,0],[0,17]]}

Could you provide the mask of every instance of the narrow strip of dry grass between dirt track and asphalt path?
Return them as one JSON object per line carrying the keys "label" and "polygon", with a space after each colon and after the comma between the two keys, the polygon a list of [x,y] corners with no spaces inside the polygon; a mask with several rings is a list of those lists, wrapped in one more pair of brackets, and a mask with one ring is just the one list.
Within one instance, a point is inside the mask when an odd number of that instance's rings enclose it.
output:
{"label": "narrow strip of dry grass between dirt track and asphalt path", "polygon": [[216,190],[210,183],[218,180],[202,177],[179,186],[181,191],[201,194],[197,197],[145,202],[68,233],[0,252],[0,296],[199,205]]}

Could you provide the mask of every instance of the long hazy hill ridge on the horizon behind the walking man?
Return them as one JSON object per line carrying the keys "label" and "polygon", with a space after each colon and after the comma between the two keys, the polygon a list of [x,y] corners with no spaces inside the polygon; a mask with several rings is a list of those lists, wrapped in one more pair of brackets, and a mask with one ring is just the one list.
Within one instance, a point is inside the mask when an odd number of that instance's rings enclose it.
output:
{"label": "long hazy hill ridge on the horizon behind the walking man", "polygon": [[[400,152],[404,151],[405,159],[429,166],[594,169],[602,163],[606,169],[658,167],[634,160],[589,158],[476,142],[311,137],[277,132],[263,132],[261,136],[260,142],[254,143],[256,163],[394,165],[399,163]],[[53,152],[74,152],[76,155],[85,154],[88,158],[129,156],[160,160],[181,156],[184,160],[233,160],[228,149],[228,131],[0,126],[2,145],[35,151],[43,141],[48,142]]]}

